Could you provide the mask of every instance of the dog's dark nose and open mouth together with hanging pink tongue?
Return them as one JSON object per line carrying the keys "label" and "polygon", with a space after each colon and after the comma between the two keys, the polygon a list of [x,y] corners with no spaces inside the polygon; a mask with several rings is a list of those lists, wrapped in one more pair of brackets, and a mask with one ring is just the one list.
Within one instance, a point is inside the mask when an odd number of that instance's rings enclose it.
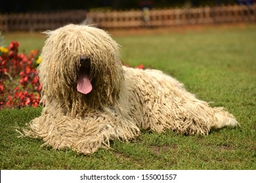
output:
{"label": "dog's dark nose and open mouth together with hanging pink tongue", "polygon": [[77,81],[77,91],[83,94],[88,94],[93,90],[91,80],[89,78],[91,73],[91,60],[85,56],[80,58],[80,68]]}

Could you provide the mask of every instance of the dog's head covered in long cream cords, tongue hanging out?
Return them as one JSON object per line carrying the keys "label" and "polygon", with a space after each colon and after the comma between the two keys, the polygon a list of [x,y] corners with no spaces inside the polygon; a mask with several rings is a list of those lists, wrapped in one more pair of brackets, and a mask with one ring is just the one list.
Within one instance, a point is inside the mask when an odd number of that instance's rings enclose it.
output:
{"label": "dog's head covered in long cream cords, tongue hanging out", "polygon": [[39,78],[47,103],[67,110],[75,105],[114,105],[123,80],[119,45],[102,29],[66,25],[47,31]]}

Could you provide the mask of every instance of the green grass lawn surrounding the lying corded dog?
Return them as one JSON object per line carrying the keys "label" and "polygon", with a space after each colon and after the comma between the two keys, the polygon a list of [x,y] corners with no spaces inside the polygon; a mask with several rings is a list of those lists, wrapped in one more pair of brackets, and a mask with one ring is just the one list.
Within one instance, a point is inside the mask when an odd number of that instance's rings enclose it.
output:
{"label": "green grass lawn surrounding the lying corded dog", "polygon": [[[0,169],[256,169],[256,25],[113,35],[125,63],[165,71],[199,99],[225,107],[241,127],[208,136],[144,131],[133,142],[113,141],[111,150],[83,156],[17,138],[15,128],[39,116],[40,107],[0,110]],[[4,36],[26,52],[45,41],[37,33]]]}

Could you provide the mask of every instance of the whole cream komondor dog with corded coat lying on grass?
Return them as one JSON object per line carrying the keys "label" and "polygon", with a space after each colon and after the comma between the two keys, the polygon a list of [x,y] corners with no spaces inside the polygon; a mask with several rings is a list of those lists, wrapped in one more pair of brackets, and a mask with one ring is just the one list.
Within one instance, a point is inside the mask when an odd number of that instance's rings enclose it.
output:
{"label": "whole cream komondor dog with corded coat lying on grass", "polygon": [[238,125],[171,76],[122,66],[119,45],[102,29],[70,24],[47,35],[38,68],[45,106],[24,131],[46,145],[90,154],[114,139],[131,141],[140,129],[207,135]]}

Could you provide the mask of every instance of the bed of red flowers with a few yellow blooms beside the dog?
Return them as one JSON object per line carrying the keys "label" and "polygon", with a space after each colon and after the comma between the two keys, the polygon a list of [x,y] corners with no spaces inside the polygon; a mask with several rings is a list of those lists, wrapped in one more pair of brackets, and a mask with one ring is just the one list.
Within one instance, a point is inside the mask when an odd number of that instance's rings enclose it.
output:
{"label": "bed of red flowers with a few yellow blooms beside the dog", "polygon": [[0,109],[37,107],[40,103],[39,51],[32,50],[26,56],[18,53],[18,46],[16,41],[7,48],[0,46]]}

